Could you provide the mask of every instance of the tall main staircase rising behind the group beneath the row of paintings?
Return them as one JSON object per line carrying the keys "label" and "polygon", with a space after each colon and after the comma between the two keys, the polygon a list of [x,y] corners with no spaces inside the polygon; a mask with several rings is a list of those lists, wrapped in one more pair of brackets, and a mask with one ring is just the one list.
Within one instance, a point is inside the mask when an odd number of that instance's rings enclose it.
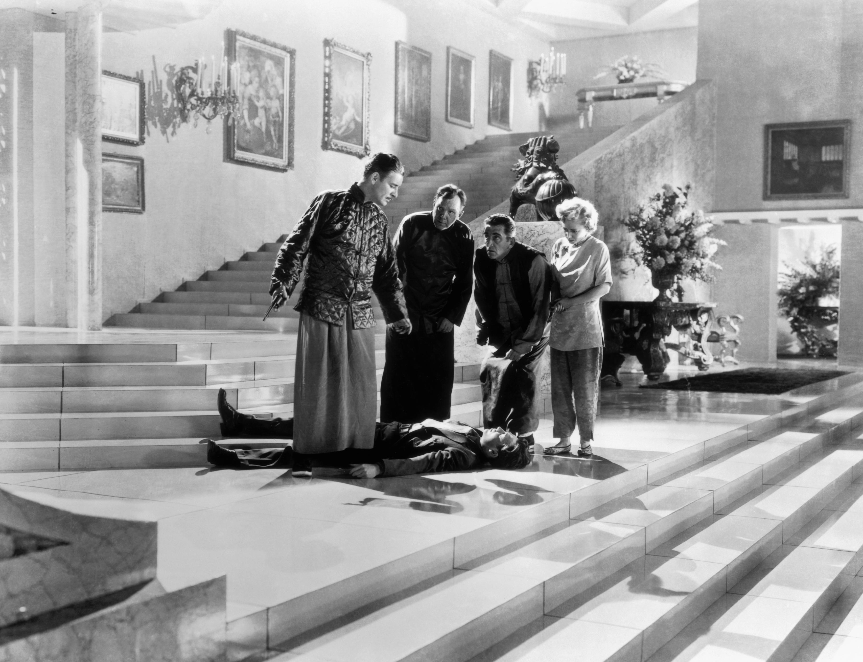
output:
{"label": "tall main staircase rising behind the group beneath the row of paintings", "polygon": [[[558,132],[562,161],[609,136],[618,127],[564,129]],[[546,132],[547,133],[547,132]],[[445,156],[429,166],[410,173],[399,197],[387,205],[390,230],[394,231],[406,214],[431,209],[431,199],[438,186],[451,182],[461,186],[468,196],[463,221],[499,205],[513,186],[511,168],[520,158],[519,145],[536,132],[488,136],[455,154]],[[163,292],[152,302],[135,306],[132,312],[112,315],[107,326],[245,330],[297,331],[299,314],[293,310],[296,295],[280,311],[263,321],[270,303],[269,277],[275,256],[286,236],[265,243],[260,249],[245,253],[239,260],[225,262],[206,271],[197,281],[184,282],[176,292]],[[299,291],[299,288],[298,288]],[[381,318],[381,311],[375,308]]]}

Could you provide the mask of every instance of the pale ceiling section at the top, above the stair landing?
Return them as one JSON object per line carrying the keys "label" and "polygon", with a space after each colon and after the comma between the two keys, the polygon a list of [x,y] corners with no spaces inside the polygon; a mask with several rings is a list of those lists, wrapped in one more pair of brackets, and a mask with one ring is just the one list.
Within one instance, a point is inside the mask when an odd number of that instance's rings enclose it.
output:
{"label": "pale ceiling section at the top, above the stair landing", "polygon": [[698,0],[485,0],[552,41],[698,24]]}

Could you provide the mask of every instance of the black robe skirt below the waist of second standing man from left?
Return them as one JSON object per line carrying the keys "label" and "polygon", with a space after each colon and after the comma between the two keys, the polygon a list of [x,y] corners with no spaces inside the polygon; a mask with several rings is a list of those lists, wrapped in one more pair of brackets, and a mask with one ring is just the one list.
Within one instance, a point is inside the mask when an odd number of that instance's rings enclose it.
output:
{"label": "black robe skirt below the waist of second standing man from left", "polygon": [[381,421],[421,423],[450,418],[454,333],[401,335],[387,328]]}

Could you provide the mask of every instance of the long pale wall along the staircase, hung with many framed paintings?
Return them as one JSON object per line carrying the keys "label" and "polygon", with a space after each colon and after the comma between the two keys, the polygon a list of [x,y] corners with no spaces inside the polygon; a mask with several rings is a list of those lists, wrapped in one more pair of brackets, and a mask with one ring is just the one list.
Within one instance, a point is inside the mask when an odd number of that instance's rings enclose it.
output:
{"label": "long pale wall along the staircase, hung with many framed paintings", "polygon": [[[514,60],[513,130],[539,128],[539,106],[526,94],[526,69],[548,43],[460,0],[225,0],[204,20],[175,29],[106,33],[103,66],[164,81],[168,63],[193,64],[202,53],[218,57],[225,28],[296,49],[296,167],[275,173],[224,161],[221,120],[210,134],[199,123],[167,137],[149,125],[147,142],[137,148],[105,142],[104,151],[144,157],[147,211],[104,215],[104,318],[274,241],[291,230],[315,193],[358,179],[362,161],[321,149],[324,38],[371,52],[371,148],[400,154],[408,170],[503,132],[486,124],[489,49]],[[397,40],[432,54],[431,142],[394,135]],[[476,56],[474,129],[444,122],[447,46]]]}

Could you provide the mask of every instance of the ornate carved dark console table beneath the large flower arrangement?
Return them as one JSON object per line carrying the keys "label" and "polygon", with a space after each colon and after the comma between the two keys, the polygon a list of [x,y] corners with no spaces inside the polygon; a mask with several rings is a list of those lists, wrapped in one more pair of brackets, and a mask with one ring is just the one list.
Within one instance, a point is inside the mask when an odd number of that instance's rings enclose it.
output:
{"label": "ornate carved dark console table beneath the large flower arrangement", "polygon": [[[715,318],[714,303],[675,301],[603,301],[605,351],[602,359],[603,382],[620,386],[617,371],[625,354],[636,356],[647,379],[655,381],[670,361],[668,350],[690,359],[699,370],[706,370],[716,359],[709,343],[719,344],[722,365],[739,363],[740,315]],[[671,329],[677,329],[680,342],[667,343]]]}

